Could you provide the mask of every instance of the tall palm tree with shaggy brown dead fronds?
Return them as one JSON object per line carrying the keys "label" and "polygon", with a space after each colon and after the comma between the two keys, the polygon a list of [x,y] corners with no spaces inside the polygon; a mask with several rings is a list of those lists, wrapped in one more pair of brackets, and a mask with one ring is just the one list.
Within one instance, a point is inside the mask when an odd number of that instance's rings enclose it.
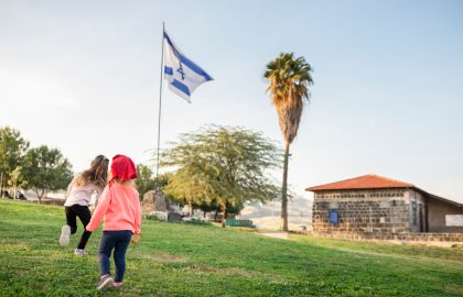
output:
{"label": "tall palm tree with shaggy brown dead fronds", "polygon": [[293,53],[281,53],[267,64],[263,77],[268,79],[267,92],[277,109],[280,130],[284,138],[284,165],[281,199],[280,229],[288,231],[288,157],[290,144],[298,134],[304,103],[309,102],[309,86],[313,84],[311,66],[304,57],[294,59]]}

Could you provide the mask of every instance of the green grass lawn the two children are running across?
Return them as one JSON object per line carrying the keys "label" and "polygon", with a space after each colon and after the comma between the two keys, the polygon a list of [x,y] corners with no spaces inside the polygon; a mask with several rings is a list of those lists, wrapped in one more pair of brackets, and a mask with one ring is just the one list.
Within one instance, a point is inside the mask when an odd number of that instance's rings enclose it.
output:
{"label": "green grass lawn the two children are running across", "polygon": [[127,252],[125,287],[99,294],[100,231],[75,256],[63,222],[61,207],[0,200],[0,296],[463,296],[461,250],[155,221]]}

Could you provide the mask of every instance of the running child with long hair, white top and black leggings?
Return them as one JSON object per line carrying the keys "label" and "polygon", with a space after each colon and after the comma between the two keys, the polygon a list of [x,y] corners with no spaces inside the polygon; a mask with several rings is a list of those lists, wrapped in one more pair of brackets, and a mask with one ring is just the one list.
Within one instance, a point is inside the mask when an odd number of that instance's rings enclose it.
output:
{"label": "running child with long hair, white top and black leggings", "polygon": [[94,193],[97,195],[96,202],[99,195],[106,186],[108,178],[108,164],[109,160],[104,155],[98,155],[91,161],[90,168],[78,174],[67,187],[67,198],[64,204],[66,212],[66,224],[63,226],[60,244],[67,246],[69,244],[69,235],[77,231],[78,217],[84,226],[84,233],[74,254],[86,255],[85,245],[91,235],[91,232],[85,230],[91,218],[89,210],[91,196]]}

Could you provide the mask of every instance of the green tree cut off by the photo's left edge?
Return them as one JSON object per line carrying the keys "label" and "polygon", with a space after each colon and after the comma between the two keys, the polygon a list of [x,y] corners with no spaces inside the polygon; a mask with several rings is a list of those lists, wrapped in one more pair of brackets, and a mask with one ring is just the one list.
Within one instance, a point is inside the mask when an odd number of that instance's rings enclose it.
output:
{"label": "green tree cut off by the photo's left edge", "polygon": [[29,142],[21,133],[8,125],[0,128],[0,188],[10,180],[11,173],[21,165]]}

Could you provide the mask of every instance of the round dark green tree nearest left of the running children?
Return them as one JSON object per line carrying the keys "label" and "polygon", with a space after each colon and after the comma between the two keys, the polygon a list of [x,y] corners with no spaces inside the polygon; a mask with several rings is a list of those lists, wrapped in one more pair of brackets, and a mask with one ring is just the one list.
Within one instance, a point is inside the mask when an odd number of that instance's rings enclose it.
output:
{"label": "round dark green tree nearest left of the running children", "polygon": [[41,145],[28,151],[24,156],[22,174],[37,195],[39,201],[49,190],[65,189],[73,179],[71,163],[57,148]]}

